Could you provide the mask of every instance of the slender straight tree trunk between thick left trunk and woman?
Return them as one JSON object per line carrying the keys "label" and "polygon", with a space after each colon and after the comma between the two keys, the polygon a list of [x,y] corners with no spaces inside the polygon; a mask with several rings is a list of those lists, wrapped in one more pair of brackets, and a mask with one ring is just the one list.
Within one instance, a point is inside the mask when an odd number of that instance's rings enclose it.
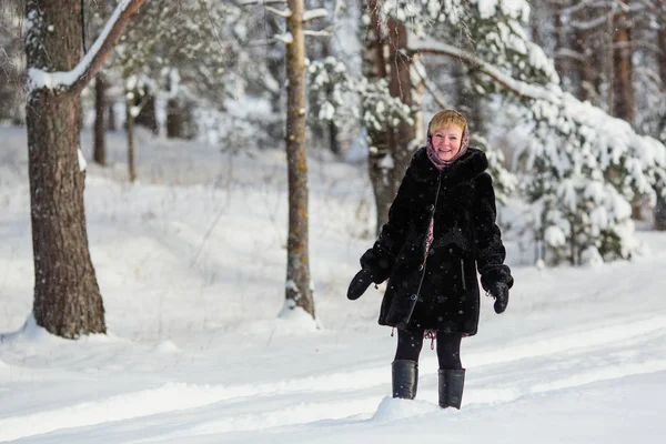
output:
{"label": "slender straight tree trunk between thick left trunk and woman", "polygon": [[289,0],[291,16],[286,31],[286,164],[289,175],[289,238],[286,260],[286,306],[300,306],[314,317],[310,282],[307,226],[307,157],[305,147],[305,41],[303,0]]}

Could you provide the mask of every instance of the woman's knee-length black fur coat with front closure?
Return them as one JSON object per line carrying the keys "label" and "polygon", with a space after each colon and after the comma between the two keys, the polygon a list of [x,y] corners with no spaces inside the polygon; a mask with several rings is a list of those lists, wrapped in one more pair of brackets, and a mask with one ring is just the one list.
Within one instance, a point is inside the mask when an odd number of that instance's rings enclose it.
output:
{"label": "woman's knee-length black fur coat with front closure", "polygon": [[[480,311],[477,270],[486,290],[496,282],[513,285],[487,167],[484,152],[470,148],[440,172],[425,148],[416,151],[389,222],[361,258],[375,283],[389,279],[380,324],[473,335]],[[434,239],[425,252],[433,212]]]}

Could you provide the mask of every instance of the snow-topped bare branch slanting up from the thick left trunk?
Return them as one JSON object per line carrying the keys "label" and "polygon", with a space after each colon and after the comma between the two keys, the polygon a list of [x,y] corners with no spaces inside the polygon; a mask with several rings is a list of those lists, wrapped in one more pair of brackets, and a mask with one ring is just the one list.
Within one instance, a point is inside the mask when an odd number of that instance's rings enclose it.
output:
{"label": "snow-topped bare branch slanting up from the thick left trunk", "polygon": [[69,94],[79,94],[85,84],[102,68],[102,63],[124,31],[129,19],[139,10],[145,0],[122,0],[94,41],[90,51],[71,71],[47,72],[41,69],[28,70],[28,89],[34,91],[42,88],[63,90]]}

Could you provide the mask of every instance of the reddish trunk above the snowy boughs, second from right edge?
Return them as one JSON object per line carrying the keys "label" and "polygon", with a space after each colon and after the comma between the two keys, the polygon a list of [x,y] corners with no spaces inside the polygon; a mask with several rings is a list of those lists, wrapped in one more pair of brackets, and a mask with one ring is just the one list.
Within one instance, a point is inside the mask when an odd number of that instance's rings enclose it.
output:
{"label": "reddish trunk above the snowy boughs, second from right edge", "polygon": [[[625,0],[625,4],[629,1]],[[632,29],[626,13],[614,16],[613,36],[613,115],[634,124],[634,85],[632,83]]]}

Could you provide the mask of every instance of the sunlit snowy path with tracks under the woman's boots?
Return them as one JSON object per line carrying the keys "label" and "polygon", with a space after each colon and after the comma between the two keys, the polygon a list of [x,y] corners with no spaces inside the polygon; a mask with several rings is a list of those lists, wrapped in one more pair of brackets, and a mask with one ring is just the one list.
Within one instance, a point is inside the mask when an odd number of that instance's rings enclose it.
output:
{"label": "sunlit snowy path with tracks under the woman's boots", "polygon": [[[491,410],[503,410],[506,403],[558,398],[563,393],[578,400],[581,393],[617,389],[612,382],[623,379],[654,377],[666,386],[664,325],[666,317],[655,315],[620,329],[599,325],[507,344],[495,353],[471,350],[465,355],[471,370],[463,412],[478,415],[491,405]],[[193,436],[222,438],[251,431],[271,431],[291,440],[293,433],[319,433],[322,427],[374,427],[402,416],[460,415],[436,407],[435,365],[434,356],[424,353],[421,401],[412,406],[382,401],[390,386],[387,365],[382,364],[258,384],[165,383],[26,415],[2,415],[0,442],[21,437],[26,438],[21,442],[43,443],[135,442],[137,431],[143,436],[137,442],[191,442]],[[6,373],[8,366],[3,364],[0,372]],[[383,416],[391,421],[381,421]]]}

